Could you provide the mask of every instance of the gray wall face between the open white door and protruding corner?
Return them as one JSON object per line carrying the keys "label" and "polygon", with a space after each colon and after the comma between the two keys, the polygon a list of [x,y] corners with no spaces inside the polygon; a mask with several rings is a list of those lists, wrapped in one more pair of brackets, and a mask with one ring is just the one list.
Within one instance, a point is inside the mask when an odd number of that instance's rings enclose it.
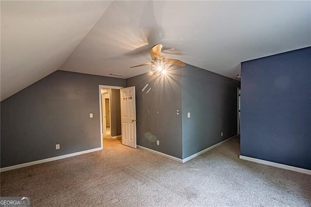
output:
{"label": "gray wall face between the open white door and protruding corner", "polygon": [[146,73],[126,79],[127,87],[136,87],[137,144],[182,158],[180,69],[163,77]]}

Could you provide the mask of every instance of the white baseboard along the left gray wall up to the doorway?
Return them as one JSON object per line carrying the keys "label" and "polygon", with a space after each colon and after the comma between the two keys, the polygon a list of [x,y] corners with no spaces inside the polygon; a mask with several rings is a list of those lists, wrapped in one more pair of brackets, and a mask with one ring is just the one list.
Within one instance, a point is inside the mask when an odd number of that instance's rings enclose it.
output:
{"label": "white baseboard along the left gray wall up to the doorway", "polygon": [[95,152],[95,151],[99,151],[99,150],[103,150],[103,148],[99,147],[99,148],[95,148],[95,149],[91,149],[91,150],[86,150],[86,151],[82,151],[82,152],[71,153],[71,154],[68,154],[68,155],[55,156],[55,157],[51,157],[51,158],[47,158],[47,159],[41,159],[41,160],[36,160],[36,161],[33,161],[33,162],[27,162],[27,163],[23,163],[23,164],[19,164],[19,165],[13,165],[13,166],[1,168],[0,172],[10,171],[10,170],[14,170],[14,169],[17,169],[17,168],[23,168],[23,167],[28,167],[28,166],[32,166],[32,165],[37,165],[37,164],[41,164],[41,163],[44,163],[44,162],[51,162],[51,161],[54,161],[54,160],[64,159],[64,158],[67,158],[67,157],[70,157],[70,156],[82,155],[82,154],[91,153],[91,152]]}

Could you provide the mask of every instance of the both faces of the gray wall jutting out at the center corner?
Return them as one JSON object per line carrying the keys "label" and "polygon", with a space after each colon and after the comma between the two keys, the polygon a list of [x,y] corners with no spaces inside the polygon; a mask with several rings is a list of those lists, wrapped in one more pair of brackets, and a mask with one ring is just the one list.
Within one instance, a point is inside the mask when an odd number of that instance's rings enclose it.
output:
{"label": "both faces of the gray wall jutting out at the center corner", "polygon": [[240,81],[190,65],[162,77],[126,79],[136,86],[138,145],[184,159],[237,135]]}

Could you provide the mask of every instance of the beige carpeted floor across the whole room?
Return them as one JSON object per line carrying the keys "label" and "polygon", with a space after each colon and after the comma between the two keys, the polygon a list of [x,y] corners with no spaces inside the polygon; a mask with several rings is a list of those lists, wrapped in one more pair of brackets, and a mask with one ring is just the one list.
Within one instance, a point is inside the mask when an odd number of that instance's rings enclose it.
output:
{"label": "beige carpeted floor across the whole room", "polygon": [[184,164],[120,142],[3,172],[1,196],[33,207],[311,206],[311,175],[239,159],[238,138]]}

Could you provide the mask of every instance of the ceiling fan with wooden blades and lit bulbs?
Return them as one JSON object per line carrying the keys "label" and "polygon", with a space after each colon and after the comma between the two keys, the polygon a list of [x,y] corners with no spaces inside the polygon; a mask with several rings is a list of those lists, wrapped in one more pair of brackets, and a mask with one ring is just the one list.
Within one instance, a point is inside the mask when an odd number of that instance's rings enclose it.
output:
{"label": "ceiling fan with wooden blades and lit bulbs", "polygon": [[152,62],[143,63],[138,66],[132,66],[130,68],[150,65],[151,68],[151,71],[149,72],[150,74],[153,74],[156,70],[162,72],[163,74],[166,74],[167,69],[169,69],[173,65],[181,67],[184,67],[186,65],[181,60],[165,58],[161,54],[162,47],[163,45],[157,44],[151,49],[150,55],[151,59],[153,60]]}

